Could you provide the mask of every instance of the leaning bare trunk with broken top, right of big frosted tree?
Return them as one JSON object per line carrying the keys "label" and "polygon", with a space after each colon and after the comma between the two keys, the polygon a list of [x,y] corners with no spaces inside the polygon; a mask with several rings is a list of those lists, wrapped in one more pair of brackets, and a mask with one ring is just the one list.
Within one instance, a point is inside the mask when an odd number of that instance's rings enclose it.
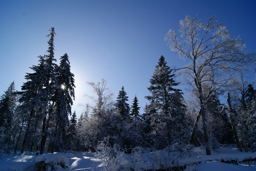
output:
{"label": "leaning bare trunk with broken top, right of big frosted tree", "polygon": [[234,116],[235,112],[233,111],[232,105],[230,102],[230,92],[227,93],[227,104],[228,104],[228,107],[230,110],[230,121],[231,121],[232,131],[233,131],[235,141],[236,141],[236,147],[239,149],[239,151],[243,151],[240,146],[239,139],[238,139],[237,132],[236,132],[236,122],[235,122],[235,116]]}

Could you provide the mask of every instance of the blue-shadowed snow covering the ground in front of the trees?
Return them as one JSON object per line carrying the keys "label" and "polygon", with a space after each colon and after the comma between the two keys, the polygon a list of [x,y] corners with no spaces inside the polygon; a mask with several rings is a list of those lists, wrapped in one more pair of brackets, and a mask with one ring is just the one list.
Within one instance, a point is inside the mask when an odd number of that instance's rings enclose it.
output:
{"label": "blue-shadowed snow covering the ground in front of the trees", "polygon": [[[162,157],[166,158],[165,160]],[[169,158],[168,158],[169,156]],[[227,164],[220,162],[221,160],[241,162],[244,159],[256,158],[256,153],[244,153],[233,147],[220,147],[217,151],[212,151],[211,156],[205,156],[203,148],[196,148],[189,155],[183,154],[175,160],[170,157],[170,153],[166,151],[158,151],[153,153],[137,153],[135,155],[124,154],[127,160],[130,160],[130,166],[137,171],[141,169],[149,169],[150,167],[157,168],[164,164],[180,163],[188,165],[185,171],[256,171],[256,163],[248,162],[240,163],[239,165]],[[57,158],[57,159],[56,159]],[[169,160],[170,159],[170,160]],[[99,166],[99,160],[95,153],[54,153],[43,154],[36,156],[33,152],[24,152],[20,154],[2,154],[0,158],[0,171],[33,171],[35,162],[38,161],[63,161],[66,162],[68,169],[59,167],[57,171],[103,171],[104,167]],[[193,164],[198,163],[200,164]],[[161,163],[161,164],[160,164]],[[164,164],[163,164],[164,163]]]}

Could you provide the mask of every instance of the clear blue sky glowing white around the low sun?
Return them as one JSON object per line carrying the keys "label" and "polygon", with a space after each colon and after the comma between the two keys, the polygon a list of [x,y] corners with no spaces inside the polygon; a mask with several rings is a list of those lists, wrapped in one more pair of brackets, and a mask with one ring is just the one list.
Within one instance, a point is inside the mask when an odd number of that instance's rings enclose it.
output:
{"label": "clear blue sky glowing white around the low sun", "polygon": [[87,82],[104,78],[114,100],[122,86],[130,105],[136,95],[142,114],[160,56],[168,66],[186,64],[164,42],[170,29],[178,31],[186,15],[203,22],[215,15],[232,37],[245,39],[245,50],[256,52],[255,8],[255,0],[2,0],[0,95],[12,81],[21,90],[26,73],[33,73],[29,67],[47,54],[46,35],[54,27],[57,64],[67,53],[75,75],[72,111],[80,115],[79,104],[90,103]]}

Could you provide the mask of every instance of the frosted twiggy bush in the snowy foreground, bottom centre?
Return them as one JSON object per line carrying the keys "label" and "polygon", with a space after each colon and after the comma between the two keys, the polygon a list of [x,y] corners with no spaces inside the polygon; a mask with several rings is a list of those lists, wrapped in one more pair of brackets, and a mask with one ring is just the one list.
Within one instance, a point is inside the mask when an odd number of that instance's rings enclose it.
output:
{"label": "frosted twiggy bush in the snowy foreground, bottom centre", "polygon": [[104,167],[104,171],[120,171],[129,170],[129,162],[124,156],[124,152],[118,145],[110,146],[108,143],[109,138],[105,138],[97,146],[96,157],[101,162],[99,165]]}

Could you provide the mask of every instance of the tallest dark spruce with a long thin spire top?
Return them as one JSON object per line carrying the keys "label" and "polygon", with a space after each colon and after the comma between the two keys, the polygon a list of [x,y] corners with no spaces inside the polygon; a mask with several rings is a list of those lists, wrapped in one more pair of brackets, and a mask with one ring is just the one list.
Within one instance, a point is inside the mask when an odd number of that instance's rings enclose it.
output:
{"label": "tallest dark spruce with a long thin spire top", "polygon": [[[54,63],[54,28],[51,28],[48,41],[48,55],[39,56],[39,64],[32,66],[34,73],[26,73],[26,83],[22,85],[20,103],[26,122],[26,131],[22,143],[21,152],[24,150],[27,138],[35,137],[33,133],[38,127],[41,132],[40,153],[43,153],[46,139],[49,137],[49,127],[54,117],[54,99],[53,95],[58,84],[55,70],[57,65]],[[30,136],[29,136],[30,134]],[[31,139],[33,142],[34,140]],[[32,143],[33,144],[33,143]],[[31,147],[32,148],[32,147]],[[37,147],[39,148],[39,147]]]}

